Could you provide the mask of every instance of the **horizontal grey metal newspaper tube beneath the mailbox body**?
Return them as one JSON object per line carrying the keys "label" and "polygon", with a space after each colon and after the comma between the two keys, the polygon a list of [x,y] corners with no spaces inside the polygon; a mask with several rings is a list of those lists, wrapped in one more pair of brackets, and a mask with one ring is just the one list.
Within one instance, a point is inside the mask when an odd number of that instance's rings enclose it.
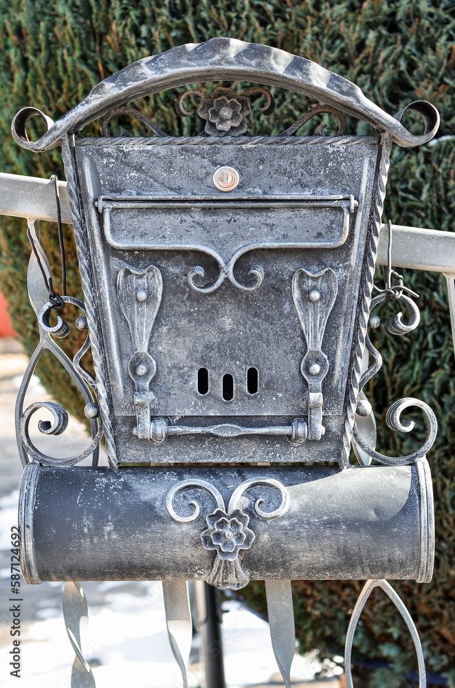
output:
{"label": "horizontal grey metal newspaper tube beneath the mailbox body", "polygon": [[[280,502],[262,484],[238,506],[249,515],[254,541],[241,552],[252,580],[415,579],[428,582],[434,557],[430,469],[413,466],[54,468],[36,462],[23,475],[19,507],[22,566],[27,583],[62,580],[206,580],[214,559],[201,533],[217,504],[186,488],[173,508],[199,517],[178,523],[166,497],[179,482],[206,481],[226,505],[247,480],[279,480],[289,507],[264,519]],[[221,498],[221,497],[220,497]]]}

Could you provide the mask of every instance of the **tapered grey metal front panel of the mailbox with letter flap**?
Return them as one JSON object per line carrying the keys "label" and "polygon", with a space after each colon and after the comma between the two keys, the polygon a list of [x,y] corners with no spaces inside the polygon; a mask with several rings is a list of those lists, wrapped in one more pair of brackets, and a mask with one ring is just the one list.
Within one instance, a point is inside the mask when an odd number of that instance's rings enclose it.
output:
{"label": "tapered grey metal front panel of the mailbox with letter flap", "polygon": [[[137,274],[154,266],[162,279],[159,303],[148,307],[156,310],[146,342],[156,363],[152,417],[188,427],[267,428],[308,413],[300,370],[308,332],[294,303],[293,276],[301,269],[318,275],[321,264],[333,270],[336,292],[322,336],[329,361],[325,435],[305,444],[273,432],[241,442],[169,436],[149,444],[149,460],[333,460],[344,428],[375,138],[293,146],[83,140],[76,150],[120,460],[144,461],[144,440],[133,436],[129,361],[136,343],[118,286],[124,268]],[[238,173],[234,191],[214,185],[222,166]]]}

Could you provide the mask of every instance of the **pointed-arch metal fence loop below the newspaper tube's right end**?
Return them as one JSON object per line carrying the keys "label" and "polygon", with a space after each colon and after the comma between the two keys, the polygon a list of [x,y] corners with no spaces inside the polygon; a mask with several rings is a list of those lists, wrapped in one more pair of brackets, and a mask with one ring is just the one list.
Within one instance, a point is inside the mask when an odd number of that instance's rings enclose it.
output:
{"label": "pointed-arch metal fence loop below the newspaper tube's right end", "polygon": [[359,594],[359,598],[355,603],[355,608],[351,616],[351,621],[349,621],[348,633],[346,635],[346,645],[344,648],[344,672],[346,676],[346,688],[353,688],[353,677],[351,674],[351,654],[353,649],[355,629],[357,628],[357,624],[359,623],[360,614],[362,614],[362,610],[366,604],[366,601],[368,600],[368,597],[375,588],[381,588],[381,590],[384,590],[386,595],[388,595],[388,597],[395,604],[395,607],[400,612],[406,625],[408,626],[408,630],[411,634],[412,642],[414,643],[414,648],[417,653],[417,663],[419,665],[419,688],[426,688],[427,678],[425,672],[425,658],[423,656],[423,650],[419,638],[419,633],[417,632],[417,628],[415,627],[414,621],[412,621],[410,613],[406,609],[405,605],[403,604],[395,590],[392,588],[392,586],[384,580],[366,581],[364,588],[362,589],[362,592]]}

